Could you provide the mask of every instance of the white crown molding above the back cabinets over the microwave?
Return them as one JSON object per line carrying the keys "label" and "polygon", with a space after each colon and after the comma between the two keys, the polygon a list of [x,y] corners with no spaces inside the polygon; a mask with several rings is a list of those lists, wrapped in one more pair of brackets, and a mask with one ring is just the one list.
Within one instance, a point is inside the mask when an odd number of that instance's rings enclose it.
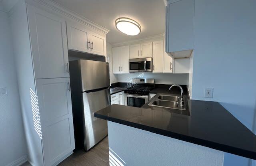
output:
{"label": "white crown molding above the back cabinets over the microwave", "polygon": [[140,43],[140,42],[144,42],[144,41],[161,40],[161,39],[164,39],[164,34],[148,36],[146,38],[141,38],[141,39],[138,39],[138,40],[129,40],[129,41],[125,41],[125,42],[113,43],[111,45],[112,45],[112,47],[118,47],[118,46],[123,46],[123,45],[129,45],[129,44],[132,44],[132,43]]}

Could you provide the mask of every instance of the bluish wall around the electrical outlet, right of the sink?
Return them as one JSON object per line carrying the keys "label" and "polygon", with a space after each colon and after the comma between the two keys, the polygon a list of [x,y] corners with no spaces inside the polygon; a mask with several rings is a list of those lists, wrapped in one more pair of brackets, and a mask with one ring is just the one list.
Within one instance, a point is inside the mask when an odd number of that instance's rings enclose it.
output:
{"label": "bluish wall around the electrical outlet, right of the sink", "polygon": [[[255,8],[255,0],[196,0],[194,22],[192,99],[220,102],[250,130],[256,111]],[[205,87],[214,87],[214,98],[204,98]],[[225,154],[224,166],[247,163]]]}

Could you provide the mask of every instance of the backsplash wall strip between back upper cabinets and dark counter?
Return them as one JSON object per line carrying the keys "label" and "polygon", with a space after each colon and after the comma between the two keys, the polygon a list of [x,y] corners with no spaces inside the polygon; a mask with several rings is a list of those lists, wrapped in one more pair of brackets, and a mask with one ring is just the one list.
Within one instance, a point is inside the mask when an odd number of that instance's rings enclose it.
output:
{"label": "backsplash wall strip between back upper cabinets and dark counter", "polygon": [[118,82],[131,82],[132,78],[154,78],[156,84],[188,85],[188,74],[129,73],[116,74]]}

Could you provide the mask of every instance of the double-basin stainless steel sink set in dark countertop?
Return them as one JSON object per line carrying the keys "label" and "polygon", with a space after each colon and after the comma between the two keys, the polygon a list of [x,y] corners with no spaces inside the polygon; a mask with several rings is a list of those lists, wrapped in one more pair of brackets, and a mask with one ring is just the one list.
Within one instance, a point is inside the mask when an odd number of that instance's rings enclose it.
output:
{"label": "double-basin stainless steel sink set in dark countertop", "polygon": [[184,105],[181,106],[180,97],[165,94],[157,94],[148,105],[168,109],[186,110],[186,101],[184,101]]}

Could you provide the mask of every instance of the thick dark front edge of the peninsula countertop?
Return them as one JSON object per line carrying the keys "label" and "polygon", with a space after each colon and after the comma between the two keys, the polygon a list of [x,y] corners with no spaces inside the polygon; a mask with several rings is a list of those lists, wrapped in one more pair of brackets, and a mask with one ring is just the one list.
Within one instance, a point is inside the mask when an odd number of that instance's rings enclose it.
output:
{"label": "thick dark front edge of the peninsula countertop", "polygon": [[254,152],[244,150],[244,149],[240,149],[240,148],[236,148],[236,147],[233,147],[233,146],[219,144],[219,143],[216,143],[216,142],[211,142],[211,141],[208,141],[208,140],[203,140],[203,139],[195,138],[195,137],[191,137],[191,136],[185,136],[183,134],[178,134],[178,133],[162,130],[162,129],[159,129],[159,128],[146,126],[146,125],[143,125],[143,124],[132,123],[132,122],[124,121],[124,120],[121,120],[121,119],[107,117],[105,115],[100,115],[100,114],[97,114],[97,113],[94,113],[94,117],[104,119],[104,120],[107,120],[107,121],[111,121],[111,122],[114,122],[114,123],[123,124],[123,125],[126,125],[126,126],[131,126],[131,127],[138,128],[138,129],[141,129],[141,130],[146,130],[146,131],[149,131],[149,132],[152,132],[152,133],[155,133],[155,134],[168,136],[170,138],[183,140],[183,141],[186,141],[186,142],[190,142],[190,143],[197,144],[197,145],[200,145],[200,146],[205,146],[205,147],[212,148],[212,149],[215,149],[215,150],[220,150],[220,151],[223,151],[223,152],[228,152],[228,153],[231,153],[231,154],[235,154],[235,155],[239,155],[239,156],[243,156],[243,157],[246,157],[246,158],[251,158],[253,160],[256,160],[256,155],[255,155]]}

